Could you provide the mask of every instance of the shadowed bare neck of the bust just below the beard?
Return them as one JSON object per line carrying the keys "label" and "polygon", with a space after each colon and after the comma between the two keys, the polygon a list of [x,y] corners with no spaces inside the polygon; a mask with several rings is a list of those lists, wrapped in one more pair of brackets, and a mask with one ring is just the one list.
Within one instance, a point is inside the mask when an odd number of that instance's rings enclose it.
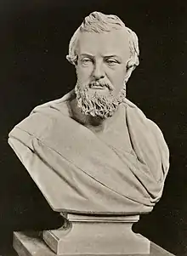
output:
{"label": "shadowed bare neck of the bust just below the beard", "polygon": [[111,125],[111,122],[116,121],[116,118],[119,117],[121,113],[120,106],[118,106],[112,117],[102,118],[84,115],[77,106],[76,99],[71,100],[71,111],[77,122],[81,122],[84,126],[94,131],[94,133],[105,131]]}

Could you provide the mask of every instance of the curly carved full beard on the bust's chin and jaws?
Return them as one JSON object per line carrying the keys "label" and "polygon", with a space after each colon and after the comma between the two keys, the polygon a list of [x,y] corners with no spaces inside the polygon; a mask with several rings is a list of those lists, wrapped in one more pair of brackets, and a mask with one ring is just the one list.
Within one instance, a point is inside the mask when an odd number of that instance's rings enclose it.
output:
{"label": "curly carved full beard on the bust's chin and jaws", "polygon": [[80,108],[84,115],[92,117],[107,118],[112,117],[118,105],[120,105],[126,98],[126,89],[122,88],[117,96],[112,92],[113,89],[108,84],[103,84],[109,89],[109,94],[102,95],[95,92],[90,93],[89,85],[82,88],[77,82],[75,93],[77,95],[77,106]]}

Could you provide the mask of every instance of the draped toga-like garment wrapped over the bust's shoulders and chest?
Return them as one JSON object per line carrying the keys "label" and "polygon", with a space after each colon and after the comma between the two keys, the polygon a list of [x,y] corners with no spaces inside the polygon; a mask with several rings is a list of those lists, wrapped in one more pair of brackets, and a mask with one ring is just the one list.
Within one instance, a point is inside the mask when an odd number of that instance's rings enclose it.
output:
{"label": "draped toga-like garment wrapped over the bust's shoulders and chest", "polygon": [[54,211],[150,212],[169,168],[161,130],[126,99],[133,152],[111,147],[71,117],[67,103],[72,94],[37,106],[9,133],[9,145]]}

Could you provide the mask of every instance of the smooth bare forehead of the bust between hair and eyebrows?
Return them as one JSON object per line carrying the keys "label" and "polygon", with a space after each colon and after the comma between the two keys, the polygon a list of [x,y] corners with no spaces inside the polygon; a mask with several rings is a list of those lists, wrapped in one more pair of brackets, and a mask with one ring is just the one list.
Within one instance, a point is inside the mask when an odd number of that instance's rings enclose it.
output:
{"label": "smooth bare forehead of the bust between hair and eyebrows", "polygon": [[102,33],[81,32],[77,54],[129,56],[129,42],[125,29]]}

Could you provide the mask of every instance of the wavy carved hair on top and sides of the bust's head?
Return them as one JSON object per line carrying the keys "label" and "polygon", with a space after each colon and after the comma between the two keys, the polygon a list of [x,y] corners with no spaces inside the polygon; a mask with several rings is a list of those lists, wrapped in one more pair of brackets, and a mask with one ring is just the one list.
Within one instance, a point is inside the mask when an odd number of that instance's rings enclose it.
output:
{"label": "wavy carved hair on top and sides of the bust's head", "polygon": [[112,31],[126,28],[127,30],[127,39],[129,42],[130,48],[130,59],[127,61],[127,69],[131,68],[131,72],[126,79],[130,77],[132,71],[139,65],[139,40],[135,32],[129,29],[125,24],[120,20],[119,17],[112,14],[102,14],[100,12],[93,12],[89,14],[82,22],[82,25],[77,28],[77,31],[71,37],[69,44],[69,54],[66,56],[66,59],[71,62],[73,65],[77,65],[77,41],[80,37],[80,34],[84,31],[102,33],[104,31]]}

